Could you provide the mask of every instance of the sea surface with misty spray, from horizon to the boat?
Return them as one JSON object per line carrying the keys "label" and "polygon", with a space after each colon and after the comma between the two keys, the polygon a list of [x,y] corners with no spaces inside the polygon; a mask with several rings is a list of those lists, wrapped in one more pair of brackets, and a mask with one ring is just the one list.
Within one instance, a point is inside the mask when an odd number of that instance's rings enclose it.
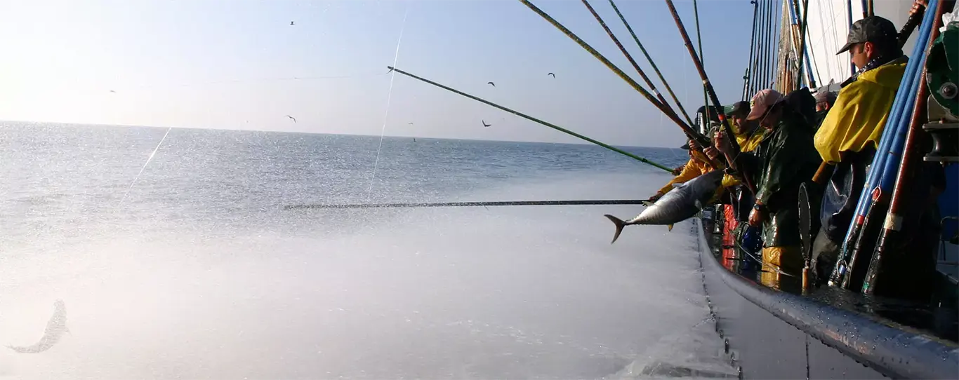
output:
{"label": "sea surface with misty spray, from horizon to the boat", "polygon": [[2,125],[0,344],[35,343],[58,299],[71,333],[42,353],[0,352],[0,375],[731,370],[706,321],[690,223],[631,227],[610,245],[602,214],[641,208],[283,210],[636,199],[668,179],[600,147],[386,138],[377,161],[377,137],[174,128],[145,167],[167,128]]}

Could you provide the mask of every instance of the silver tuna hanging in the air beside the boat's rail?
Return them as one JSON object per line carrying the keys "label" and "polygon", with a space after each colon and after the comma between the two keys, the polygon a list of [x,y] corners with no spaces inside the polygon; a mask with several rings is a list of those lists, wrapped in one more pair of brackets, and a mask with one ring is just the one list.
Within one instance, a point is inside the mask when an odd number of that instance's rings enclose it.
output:
{"label": "silver tuna hanging in the air beside the boat's rail", "polygon": [[722,183],[722,174],[722,170],[713,170],[676,186],[632,219],[622,221],[616,216],[606,214],[605,216],[616,224],[616,235],[613,235],[610,244],[620,238],[623,227],[634,224],[668,225],[669,231],[672,231],[674,223],[689,219],[713,197]]}

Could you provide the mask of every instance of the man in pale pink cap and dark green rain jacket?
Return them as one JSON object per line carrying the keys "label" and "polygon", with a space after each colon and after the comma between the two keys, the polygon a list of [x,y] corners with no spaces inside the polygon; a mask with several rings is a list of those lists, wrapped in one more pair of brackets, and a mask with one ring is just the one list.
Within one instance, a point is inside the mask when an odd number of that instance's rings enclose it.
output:
{"label": "man in pale pink cap and dark green rain jacket", "polygon": [[[803,267],[798,223],[799,186],[819,167],[807,119],[773,89],[753,97],[745,123],[758,123],[765,138],[755,151],[741,153],[757,184],[749,224],[762,227],[762,262],[775,271],[797,275]],[[731,146],[717,136],[719,149],[729,157]]]}

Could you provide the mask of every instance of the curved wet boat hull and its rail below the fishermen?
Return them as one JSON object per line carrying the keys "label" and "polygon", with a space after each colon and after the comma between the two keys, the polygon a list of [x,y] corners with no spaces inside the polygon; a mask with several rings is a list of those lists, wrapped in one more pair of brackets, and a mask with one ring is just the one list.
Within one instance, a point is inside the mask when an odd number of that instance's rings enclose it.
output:
{"label": "curved wet boat hull and its rail below the fishermen", "polygon": [[[744,379],[946,379],[959,347],[858,313],[761,286],[724,267],[695,220],[716,331]],[[717,247],[718,249],[718,247]],[[720,257],[721,258],[721,257]]]}

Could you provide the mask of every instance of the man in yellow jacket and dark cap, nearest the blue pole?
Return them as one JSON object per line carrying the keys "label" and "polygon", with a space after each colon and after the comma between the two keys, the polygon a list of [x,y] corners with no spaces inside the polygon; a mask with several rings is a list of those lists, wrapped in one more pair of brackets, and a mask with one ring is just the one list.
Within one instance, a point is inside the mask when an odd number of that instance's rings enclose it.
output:
{"label": "man in yellow jacket and dark cap, nearest the blue pole", "polygon": [[820,281],[829,279],[839,256],[907,61],[896,27],[879,16],[853,24],[837,55],[845,52],[858,71],[844,83],[814,138],[823,162],[833,167],[829,178],[817,178],[820,183],[828,180],[822,197],[822,227],[812,243],[813,267]]}

